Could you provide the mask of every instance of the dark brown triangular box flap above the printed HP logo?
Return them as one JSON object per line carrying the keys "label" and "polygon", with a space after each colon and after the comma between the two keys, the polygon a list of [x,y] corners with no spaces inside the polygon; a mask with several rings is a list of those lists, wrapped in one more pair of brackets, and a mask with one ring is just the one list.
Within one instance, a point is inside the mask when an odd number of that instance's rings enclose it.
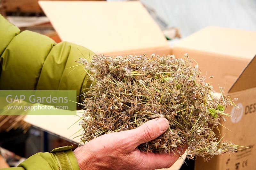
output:
{"label": "dark brown triangular box flap above the printed HP logo", "polygon": [[[234,68],[235,69],[235,68]],[[252,61],[245,67],[235,83],[231,86],[228,93],[256,87],[256,55]]]}

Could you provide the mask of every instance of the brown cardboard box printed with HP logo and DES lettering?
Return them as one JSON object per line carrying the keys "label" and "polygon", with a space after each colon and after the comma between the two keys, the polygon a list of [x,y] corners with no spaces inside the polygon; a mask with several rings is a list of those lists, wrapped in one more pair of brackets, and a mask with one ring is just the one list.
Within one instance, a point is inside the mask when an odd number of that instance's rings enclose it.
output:
{"label": "brown cardboard box printed with HP logo and DES lettering", "polygon": [[231,98],[238,98],[237,110],[235,107],[228,107],[226,113],[231,113],[232,117],[227,118],[224,126],[220,126],[221,135],[224,140],[232,141],[236,145],[249,148],[243,148],[243,151],[237,151],[231,156],[228,153],[215,156],[209,162],[202,159],[196,159],[195,170],[252,170],[255,169],[256,158],[256,56],[247,65],[239,78],[231,86]]}

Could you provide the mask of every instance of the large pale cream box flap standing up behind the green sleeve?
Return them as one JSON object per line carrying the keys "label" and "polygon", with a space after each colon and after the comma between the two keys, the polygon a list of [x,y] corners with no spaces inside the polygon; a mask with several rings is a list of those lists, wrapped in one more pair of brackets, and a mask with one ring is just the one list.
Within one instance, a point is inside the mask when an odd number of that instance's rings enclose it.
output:
{"label": "large pale cream box flap standing up behind the green sleeve", "polygon": [[39,1],[62,41],[95,53],[169,47],[139,1]]}

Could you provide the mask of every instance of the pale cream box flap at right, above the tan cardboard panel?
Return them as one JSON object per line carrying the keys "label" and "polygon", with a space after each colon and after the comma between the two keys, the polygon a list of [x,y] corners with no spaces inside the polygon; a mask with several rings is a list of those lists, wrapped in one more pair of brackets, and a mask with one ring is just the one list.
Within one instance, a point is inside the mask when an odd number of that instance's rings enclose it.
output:
{"label": "pale cream box flap at right, above the tan cardboard panel", "polygon": [[252,59],[255,55],[256,31],[208,26],[173,46],[232,58]]}

